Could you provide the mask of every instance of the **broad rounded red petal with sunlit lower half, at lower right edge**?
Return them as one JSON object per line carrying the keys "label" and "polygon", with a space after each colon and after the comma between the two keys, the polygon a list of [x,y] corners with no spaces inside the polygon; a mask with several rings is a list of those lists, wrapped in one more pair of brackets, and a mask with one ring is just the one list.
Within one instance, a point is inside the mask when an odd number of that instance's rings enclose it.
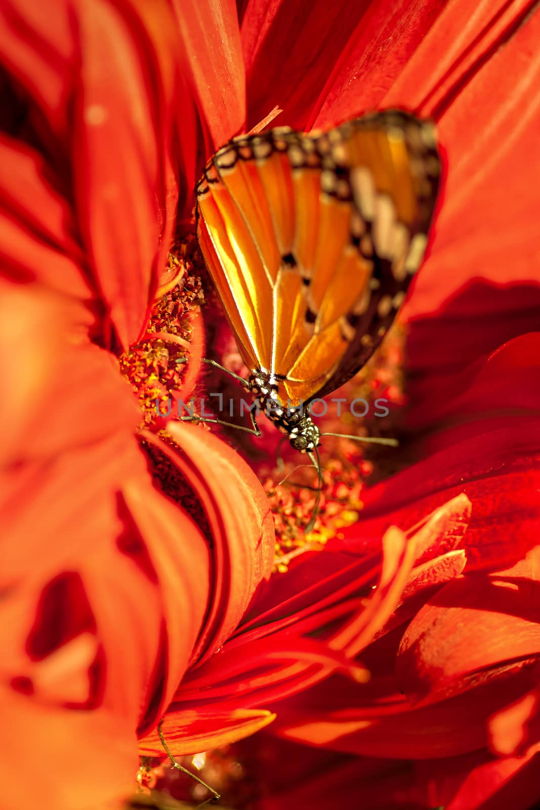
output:
{"label": "broad rounded red petal with sunlit lower half, at lower right edge", "polygon": [[497,574],[449,582],[411,621],[397,676],[415,701],[440,699],[540,655],[540,587],[524,561]]}

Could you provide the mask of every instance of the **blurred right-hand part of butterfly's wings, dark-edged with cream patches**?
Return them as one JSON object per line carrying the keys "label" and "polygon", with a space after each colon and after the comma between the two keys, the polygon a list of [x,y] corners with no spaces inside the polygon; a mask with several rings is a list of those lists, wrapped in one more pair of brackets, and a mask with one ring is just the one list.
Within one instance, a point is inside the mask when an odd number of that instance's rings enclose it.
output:
{"label": "blurred right-hand part of butterfly's wings, dark-edged with cream patches", "polygon": [[427,245],[440,158],[432,123],[398,110],[347,122],[321,139],[330,164],[347,172],[358,215],[351,237],[370,267],[364,297],[345,316],[347,348],[317,391],[322,397],[362,368],[393,323]]}

